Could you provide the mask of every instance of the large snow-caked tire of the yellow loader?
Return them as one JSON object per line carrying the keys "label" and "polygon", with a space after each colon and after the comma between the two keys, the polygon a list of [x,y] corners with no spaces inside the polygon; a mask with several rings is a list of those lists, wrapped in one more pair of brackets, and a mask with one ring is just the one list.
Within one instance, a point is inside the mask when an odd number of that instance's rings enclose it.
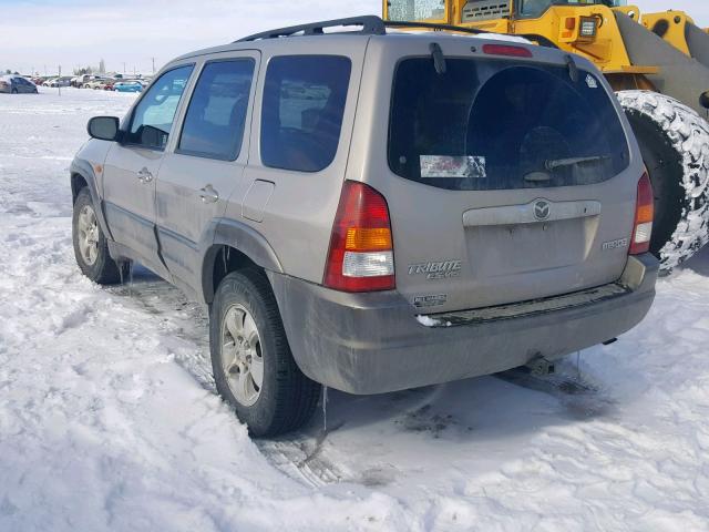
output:
{"label": "large snow-caked tire of the yellow loader", "polygon": [[653,183],[650,252],[671,272],[709,242],[709,122],[664,94],[617,95]]}

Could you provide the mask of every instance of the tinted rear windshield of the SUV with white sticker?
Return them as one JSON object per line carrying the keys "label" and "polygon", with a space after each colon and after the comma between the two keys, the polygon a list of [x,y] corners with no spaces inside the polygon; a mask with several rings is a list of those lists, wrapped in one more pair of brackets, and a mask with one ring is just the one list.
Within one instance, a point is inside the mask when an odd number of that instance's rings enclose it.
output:
{"label": "tinted rear windshield of the SUV with white sticker", "polygon": [[514,61],[431,58],[397,68],[389,166],[448,190],[589,185],[628,167],[615,106],[596,74]]}

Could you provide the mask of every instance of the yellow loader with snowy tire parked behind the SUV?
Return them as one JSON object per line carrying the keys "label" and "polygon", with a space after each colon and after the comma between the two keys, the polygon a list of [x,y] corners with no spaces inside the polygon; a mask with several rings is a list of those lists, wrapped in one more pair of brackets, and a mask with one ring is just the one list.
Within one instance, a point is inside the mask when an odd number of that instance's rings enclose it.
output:
{"label": "yellow loader with snowy tire parked behind the SUV", "polygon": [[625,0],[384,0],[407,28],[525,37],[593,61],[617,91],[655,190],[665,270],[709,242],[709,30]]}

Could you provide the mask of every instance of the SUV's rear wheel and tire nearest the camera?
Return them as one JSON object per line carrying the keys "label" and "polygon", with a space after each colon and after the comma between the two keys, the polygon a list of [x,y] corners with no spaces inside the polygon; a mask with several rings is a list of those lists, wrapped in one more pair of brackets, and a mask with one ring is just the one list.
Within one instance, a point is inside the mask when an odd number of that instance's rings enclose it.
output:
{"label": "SUV's rear wheel and tire nearest the camera", "polygon": [[296,365],[263,272],[233,272],[222,280],[209,313],[209,346],[217,390],[251,436],[278,436],[311,418],[320,385]]}

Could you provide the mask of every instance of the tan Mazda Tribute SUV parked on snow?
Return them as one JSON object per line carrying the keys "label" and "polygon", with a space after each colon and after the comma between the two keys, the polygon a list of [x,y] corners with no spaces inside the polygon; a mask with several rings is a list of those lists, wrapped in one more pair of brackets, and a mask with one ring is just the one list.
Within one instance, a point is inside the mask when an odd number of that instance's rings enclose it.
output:
{"label": "tan Mazda Tribute SUV parked on snow", "polygon": [[217,388],[255,436],[305,423],[320,385],[554,360],[655,296],[638,146],[558,50],[374,17],[276,30],[174,60],[89,133],[80,268],[140,262],[206,303]]}

